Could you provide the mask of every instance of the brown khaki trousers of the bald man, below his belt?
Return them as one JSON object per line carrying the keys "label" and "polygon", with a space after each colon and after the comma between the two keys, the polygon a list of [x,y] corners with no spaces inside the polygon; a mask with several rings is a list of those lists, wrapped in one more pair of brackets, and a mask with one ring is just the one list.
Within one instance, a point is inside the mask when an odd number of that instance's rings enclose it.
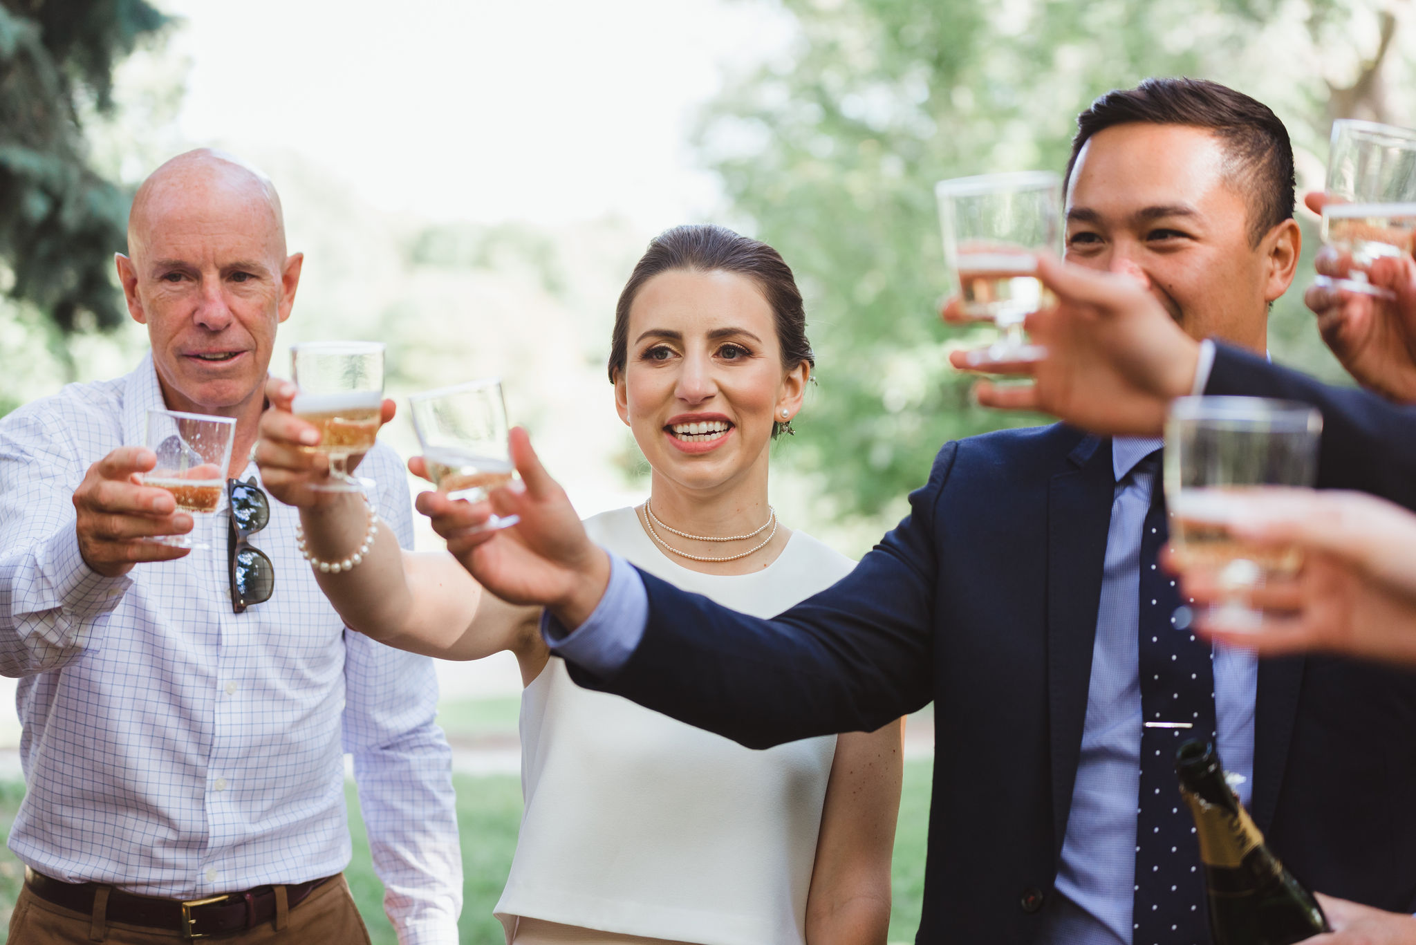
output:
{"label": "brown khaki trousers of the bald man, below his belt", "polygon": [[[98,935],[95,938],[95,934]],[[150,942],[184,941],[181,932],[106,922],[98,915],[84,915],[74,910],[45,902],[25,887],[10,917],[8,945],[149,945]],[[354,897],[344,877],[330,880],[310,893],[289,912],[282,931],[275,922],[265,922],[245,932],[212,936],[211,942],[232,945],[370,945],[368,931],[360,918]]]}

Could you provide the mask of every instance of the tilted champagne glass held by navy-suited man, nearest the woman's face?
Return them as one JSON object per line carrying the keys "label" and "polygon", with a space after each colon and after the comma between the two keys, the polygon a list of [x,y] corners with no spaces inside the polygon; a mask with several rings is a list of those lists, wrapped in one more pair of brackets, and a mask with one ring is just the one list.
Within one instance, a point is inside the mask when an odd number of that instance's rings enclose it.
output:
{"label": "tilted champagne glass held by navy-suited man, nearest the woman's face", "polygon": [[[469,381],[408,398],[423,448],[423,462],[438,492],[481,502],[515,473],[507,435],[507,404],[501,381]],[[514,526],[517,516],[491,516],[486,528]]]}

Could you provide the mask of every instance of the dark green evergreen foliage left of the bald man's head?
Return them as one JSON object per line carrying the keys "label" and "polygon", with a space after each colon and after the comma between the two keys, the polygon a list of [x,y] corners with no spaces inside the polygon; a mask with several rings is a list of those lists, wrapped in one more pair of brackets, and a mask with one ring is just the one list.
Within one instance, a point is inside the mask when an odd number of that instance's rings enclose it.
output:
{"label": "dark green evergreen foliage left of the bald man's head", "polygon": [[0,0],[0,288],[62,332],[123,320],[113,251],[130,194],[88,160],[84,118],[167,17],[143,0]]}

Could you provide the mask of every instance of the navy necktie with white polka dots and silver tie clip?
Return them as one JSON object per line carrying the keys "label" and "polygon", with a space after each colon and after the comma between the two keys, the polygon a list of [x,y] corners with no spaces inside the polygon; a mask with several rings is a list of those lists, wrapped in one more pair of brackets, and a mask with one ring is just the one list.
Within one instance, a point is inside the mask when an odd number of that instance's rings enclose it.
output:
{"label": "navy necktie with white polka dots and silver tie clip", "polygon": [[1141,533],[1140,689],[1141,788],[1136,810],[1134,945],[1204,945],[1209,941],[1199,844],[1180,799],[1175,749],[1189,738],[1215,738],[1212,649],[1175,629],[1180,592],[1157,567],[1167,538],[1160,451],[1137,472],[1151,472],[1151,504]]}

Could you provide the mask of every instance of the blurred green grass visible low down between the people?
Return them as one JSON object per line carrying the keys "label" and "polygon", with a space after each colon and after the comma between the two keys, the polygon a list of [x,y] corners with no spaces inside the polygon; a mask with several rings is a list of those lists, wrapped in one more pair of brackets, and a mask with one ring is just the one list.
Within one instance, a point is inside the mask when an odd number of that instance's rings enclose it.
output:
{"label": "blurred green grass visible low down between the people", "polygon": [[[494,718],[493,711],[484,717]],[[514,718],[514,717],[513,717]],[[476,720],[473,720],[476,721]],[[486,725],[483,727],[483,731]],[[889,941],[910,942],[919,928],[919,902],[925,885],[925,833],[929,825],[930,762],[905,764],[905,793],[901,798],[899,830],[895,836],[892,884],[895,908],[891,915]],[[500,945],[501,924],[491,918],[491,907],[501,894],[501,884],[511,867],[521,823],[521,786],[515,776],[469,778],[456,775],[457,826],[462,834],[463,908],[457,924],[463,945]],[[0,782],[0,829],[8,836],[10,825],[24,796],[24,786]],[[348,786],[350,833],[354,859],[346,876],[360,912],[368,924],[374,945],[396,945],[394,928],[384,915],[384,887],[374,876],[368,837],[360,817],[354,785]],[[10,922],[24,867],[8,849],[0,849],[0,942]]]}

